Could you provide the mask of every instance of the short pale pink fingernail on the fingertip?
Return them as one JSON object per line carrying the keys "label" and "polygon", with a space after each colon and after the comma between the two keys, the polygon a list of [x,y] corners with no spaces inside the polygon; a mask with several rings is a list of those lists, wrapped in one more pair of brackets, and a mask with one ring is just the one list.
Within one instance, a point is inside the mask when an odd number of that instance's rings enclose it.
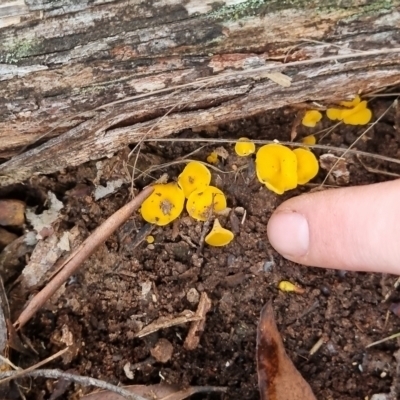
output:
{"label": "short pale pink fingernail on the fingertip", "polygon": [[284,257],[301,257],[308,251],[308,222],[297,212],[278,211],[273,214],[267,233],[272,247]]}

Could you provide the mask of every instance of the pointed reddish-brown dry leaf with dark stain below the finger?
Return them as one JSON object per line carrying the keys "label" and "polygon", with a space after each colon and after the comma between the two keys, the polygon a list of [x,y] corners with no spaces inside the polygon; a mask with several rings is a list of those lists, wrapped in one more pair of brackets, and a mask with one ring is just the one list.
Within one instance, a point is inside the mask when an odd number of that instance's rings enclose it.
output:
{"label": "pointed reddish-brown dry leaf with dark stain below the finger", "polygon": [[271,302],[262,309],[258,324],[257,371],[261,400],[316,400],[286,354]]}

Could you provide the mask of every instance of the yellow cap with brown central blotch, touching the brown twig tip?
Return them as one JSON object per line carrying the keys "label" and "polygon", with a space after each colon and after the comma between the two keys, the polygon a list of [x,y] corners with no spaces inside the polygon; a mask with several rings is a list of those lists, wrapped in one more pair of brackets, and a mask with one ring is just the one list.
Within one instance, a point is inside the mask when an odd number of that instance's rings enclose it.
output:
{"label": "yellow cap with brown central blotch, touching the brown twig tip", "polygon": [[159,226],[178,218],[183,210],[185,195],[174,182],[154,185],[154,192],[143,202],[140,212],[145,221]]}

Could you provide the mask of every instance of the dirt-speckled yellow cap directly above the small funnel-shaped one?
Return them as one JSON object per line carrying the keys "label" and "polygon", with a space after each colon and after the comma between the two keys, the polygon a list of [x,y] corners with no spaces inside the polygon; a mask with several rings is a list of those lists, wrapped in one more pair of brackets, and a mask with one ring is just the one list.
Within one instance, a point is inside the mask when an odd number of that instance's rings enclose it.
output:
{"label": "dirt-speckled yellow cap directly above the small funnel-shaped one", "polygon": [[[212,210],[211,210],[211,207]],[[188,214],[198,221],[207,221],[211,212],[219,212],[226,208],[224,193],[214,186],[192,192],[186,202]]]}

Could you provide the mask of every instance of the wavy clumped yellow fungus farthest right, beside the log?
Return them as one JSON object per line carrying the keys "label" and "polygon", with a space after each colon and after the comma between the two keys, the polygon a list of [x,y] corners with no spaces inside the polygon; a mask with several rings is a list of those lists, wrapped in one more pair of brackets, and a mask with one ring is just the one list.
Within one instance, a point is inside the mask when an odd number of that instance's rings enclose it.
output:
{"label": "wavy clumped yellow fungus farthest right, beside the log", "polygon": [[366,125],[372,118],[372,112],[367,108],[367,102],[360,101],[359,96],[353,101],[342,101],[340,105],[352,108],[328,108],[326,115],[329,119],[343,121],[347,125]]}

